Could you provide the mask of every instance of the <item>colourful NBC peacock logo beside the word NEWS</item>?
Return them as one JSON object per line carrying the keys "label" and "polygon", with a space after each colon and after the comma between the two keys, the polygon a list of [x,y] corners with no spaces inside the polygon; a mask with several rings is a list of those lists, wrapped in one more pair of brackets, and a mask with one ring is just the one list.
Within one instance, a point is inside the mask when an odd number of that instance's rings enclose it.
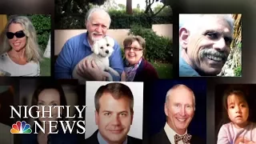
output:
{"label": "colourful NBC peacock logo beside the word NEWS", "polygon": [[12,129],[10,130],[11,134],[31,134],[32,130],[30,129],[30,124],[26,124],[25,121],[18,121],[16,124],[13,124]]}

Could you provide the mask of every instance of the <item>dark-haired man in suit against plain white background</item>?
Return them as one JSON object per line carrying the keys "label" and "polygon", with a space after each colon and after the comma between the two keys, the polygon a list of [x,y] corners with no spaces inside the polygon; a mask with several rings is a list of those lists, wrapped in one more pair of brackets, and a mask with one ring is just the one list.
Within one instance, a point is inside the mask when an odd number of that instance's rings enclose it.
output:
{"label": "dark-haired man in suit against plain white background", "polygon": [[114,82],[101,86],[94,98],[98,130],[85,143],[137,144],[141,139],[128,136],[134,116],[134,96],[130,88]]}

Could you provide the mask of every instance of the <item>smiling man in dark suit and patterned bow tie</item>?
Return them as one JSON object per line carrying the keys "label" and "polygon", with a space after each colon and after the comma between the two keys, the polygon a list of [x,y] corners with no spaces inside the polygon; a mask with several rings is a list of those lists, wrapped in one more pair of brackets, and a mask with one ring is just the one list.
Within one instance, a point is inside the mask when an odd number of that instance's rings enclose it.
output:
{"label": "smiling man in dark suit and patterned bow tie", "polygon": [[166,94],[166,125],[150,138],[150,143],[159,144],[205,144],[204,140],[187,134],[187,127],[194,117],[194,92],[185,85],[173,86]]}

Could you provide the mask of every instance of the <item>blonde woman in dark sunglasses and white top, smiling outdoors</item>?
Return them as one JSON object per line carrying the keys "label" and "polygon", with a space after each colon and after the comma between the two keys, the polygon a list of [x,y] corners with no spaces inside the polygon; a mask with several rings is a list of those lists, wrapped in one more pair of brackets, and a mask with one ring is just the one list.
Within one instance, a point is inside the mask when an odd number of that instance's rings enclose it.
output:
{"label": "blonde woman in dark sunglasses and white top, smiling outdoors", "polygon": [[29,18],[10,18],[2,31],[0,44],[0,71],[5,76],[40,75],[41,51]]}

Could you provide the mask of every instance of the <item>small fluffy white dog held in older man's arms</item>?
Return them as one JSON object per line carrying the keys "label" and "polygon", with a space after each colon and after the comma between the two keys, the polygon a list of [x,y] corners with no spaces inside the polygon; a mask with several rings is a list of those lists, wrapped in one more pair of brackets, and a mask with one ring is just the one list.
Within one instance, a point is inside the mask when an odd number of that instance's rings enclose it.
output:
{"label": "small fluffy white dog held in older man's arms", "polygon": [[[74,67],[73,70],[73,78],[78,79],[78,82],[80,84],[86,83],[86,78],[82,78],[78,74],[78,65],[82,64],[82,62],[85,62],[86,59],[88,60],[94,60],[96,65],[102,70],[102,71],[110,71],[112,74],[116,76],[120,76],[116,70],[110,67],[110,60],[109,57],[114,51],[114,39],[106,36],[105,38],[102,38],[98,41],[94,42],[94,46],[92,48],[93,54],[88,55],[86,58],[83,58],[78,64]],[[107,74],[108,81],[113,81],[113,78],[110,73]]]}

